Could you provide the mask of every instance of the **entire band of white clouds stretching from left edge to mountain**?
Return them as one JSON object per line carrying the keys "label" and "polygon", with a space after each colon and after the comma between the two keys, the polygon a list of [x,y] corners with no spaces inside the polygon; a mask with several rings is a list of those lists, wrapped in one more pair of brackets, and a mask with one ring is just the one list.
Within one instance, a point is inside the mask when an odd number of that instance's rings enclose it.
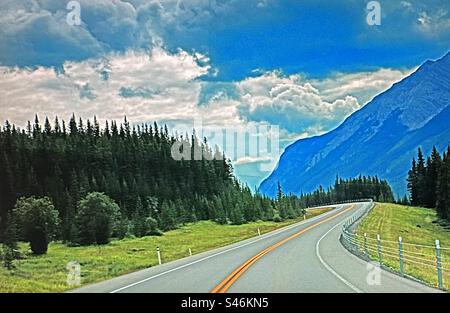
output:
{"label": "entire band of white clouds stretching from left edge to mountain", "polygon": [[[317,135],[336,127],[366,100],[409,71],[339,73],[323,80],[266,72],[242,81],[216,83],[203,99],[200,78],[212,68],[207,56],[162,47],[151,53],[113,53],[101,59],[51,68],[0,67],[0,119],[24,126],[35,113],[67,118],[160,120],[189,129],[195,118],[207,129],[279,125],[281,140]],[[283,141],[284,142],[284,141]]]}

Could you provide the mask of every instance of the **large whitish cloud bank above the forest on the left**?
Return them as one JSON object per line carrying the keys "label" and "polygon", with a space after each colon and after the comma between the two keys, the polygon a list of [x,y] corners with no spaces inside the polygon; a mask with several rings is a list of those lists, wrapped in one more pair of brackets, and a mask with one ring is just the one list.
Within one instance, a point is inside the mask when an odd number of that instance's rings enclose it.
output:
{"label": "large whitish cloud bank above the forest on the left", "polygon": [[[35,113],[135,121],[189,118],[197,108],[200,82],[209,65],[185,51],[112,54],[102,59],[66,62],[62,71],[52,68],[1,67],[1,118],[24,125]],[[125,96],[124,90],[134,92]],[[140,93],[139,93],[140,91]],[[146,91],[146,94],[143,94]],[[140,96],[137,96],[140,95]]]}

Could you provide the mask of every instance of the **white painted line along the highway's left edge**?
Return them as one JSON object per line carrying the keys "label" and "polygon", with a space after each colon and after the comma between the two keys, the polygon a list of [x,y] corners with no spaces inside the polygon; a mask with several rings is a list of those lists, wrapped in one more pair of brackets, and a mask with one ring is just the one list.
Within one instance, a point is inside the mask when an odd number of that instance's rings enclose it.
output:
{"label": "white painted line along the highway's left edge", "polygon": [[160,277],[160,276],[163,276],[163,275],[166,275],[166,274],[175,272],[175,271],[177,271],[177,270],[183,269],[183,268],[185,268],[185,267],[188,267],[188,266],[191,266],[191,265],[194,265],[194,264],[197,264],[197,263],[206,261],[206,260],[211,259],[211,258],[213,258],[213,257],[216,257],[216,256],[218,256],[218,255],[221,255],[221,254],[224,254],[224,253],[227,253],[227,252],[236,250],[236,249],[240,249],[240,248],[243,248],[243,247],[245,247],[245,246],[254,244],[254,243],[258,242],[258,241],[261,241],[261,240],[264,240],[264,239],[273,237],[273,236],[275,236],[275,235],[278,235],[278,234],[281,234],[281,233],[283,233],[283,232],[285,232],[285,231],[288,231],[288,230],[290,230],[290,229],[292,229],[292,228],[295,228],[295,227],[298,227],[298,226],[300,226],[300,225],[303,225],[303,224],[306,224],[306,223],[310,223],[310,222],[313,222],[313,221],[315,221],[315,220],[317,220],[317,219],[321,219],[321,218],[323,218],[323,217],[326,217],[326,216],[330,215],[332,212],[339,211],[340,209],[342,209],[342,207],[343,207],[342,204],[341,204],[341,205],[336,205],[336,209],[331,210],[331,211],[329,211],[329,212],[327,212],[327,213],[325,213],[325,214],[320,214],[320,215],[318,215],[318,216],[315,216],[315,217],[313,217],[313,218],[307,219],[307,220],[305,220],[305,221],[301,221],[301,222],[296,223],[296,224],[291,225],[291,226],[287,226],[287,227],[282,228],[282,229],[280,229],[280,230],[275,230],[275,231],[273,231],[273,232],[270,232],[270,233],[268,233],[268,234],[266,234],[266,235],[261,236],[261,238],[257,238],[256,240],[253,240],[253,241],[247,242],[247,243],[245,243],[245,244],[242,244],[242,245],[240,245],[240,246],[233,247],[233,248],[230,248],[230,249],[227,249],[227,250],[224,250],[224,251],[221,251],[221,252],[218,252],[218,253],[209,255],[209,256],[207,256],[207,257],[204,257],[204,258],[201,258],[201,259],[199,259],[199,260],[196,260],[196,261],[193,261],[193,262],[190,262],[190,263],[187,263],[187,264],[184,264],[184,265],[175,267],[175,268],[173,268],[173,269],[170,269],[170,270],[168,270],[168,271],[165,271],[165,272],[156,274],[156,275],[154,275],[154,276],[147,277],[147,278],[142,279],[142,280],[140,280],[140,281],[137,281],[137,282],[135,282],[135,283],[132,283],[132,284],[126,285],[126,286],[124,286],[124,287],[121,287],[121,288],[119,288],[119,289],[115,289],[115,290],[113,290],[113,291],[110,291],[109,293],[117,293],[117,292],[120,292],[120,291],[122,291],[122,290],[131,288],[131,287],[134,287],[134,286],[139,285],[139,284],[142,284],[142,283],[145,283],[146,281],[149,281],[149,280],[158,278],[158,277]]}

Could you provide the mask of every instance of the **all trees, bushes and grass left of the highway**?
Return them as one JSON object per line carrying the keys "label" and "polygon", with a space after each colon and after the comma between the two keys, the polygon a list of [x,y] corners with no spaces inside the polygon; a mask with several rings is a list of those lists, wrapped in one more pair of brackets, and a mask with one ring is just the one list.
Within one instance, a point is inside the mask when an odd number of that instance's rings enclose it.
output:
{"label": "all trees, bushes and grass left of the highway", "polygon": [[393,200],[376,176],[301,195],[279,183],[272,199],[239,182],[195,130],[126,118],[103,128],[75,116],[36,116],[26,129],[6,121],[0,177],[0,291],[62,291],[71,261],[86,284],[155,265],[156,246],[167,262],[301,220],[310,206]]}

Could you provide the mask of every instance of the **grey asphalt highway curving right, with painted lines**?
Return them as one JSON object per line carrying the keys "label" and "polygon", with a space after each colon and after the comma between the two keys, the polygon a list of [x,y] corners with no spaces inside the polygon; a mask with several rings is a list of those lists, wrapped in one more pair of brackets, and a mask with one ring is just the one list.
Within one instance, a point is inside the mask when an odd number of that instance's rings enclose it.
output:
{"label": "grey asphalt highway curving right, with painted lines", "polygon": [[342,246],[339,236],[344,221],[370,205],[338,205],[259,237],[72,292],[439,292],[374,268]]}

